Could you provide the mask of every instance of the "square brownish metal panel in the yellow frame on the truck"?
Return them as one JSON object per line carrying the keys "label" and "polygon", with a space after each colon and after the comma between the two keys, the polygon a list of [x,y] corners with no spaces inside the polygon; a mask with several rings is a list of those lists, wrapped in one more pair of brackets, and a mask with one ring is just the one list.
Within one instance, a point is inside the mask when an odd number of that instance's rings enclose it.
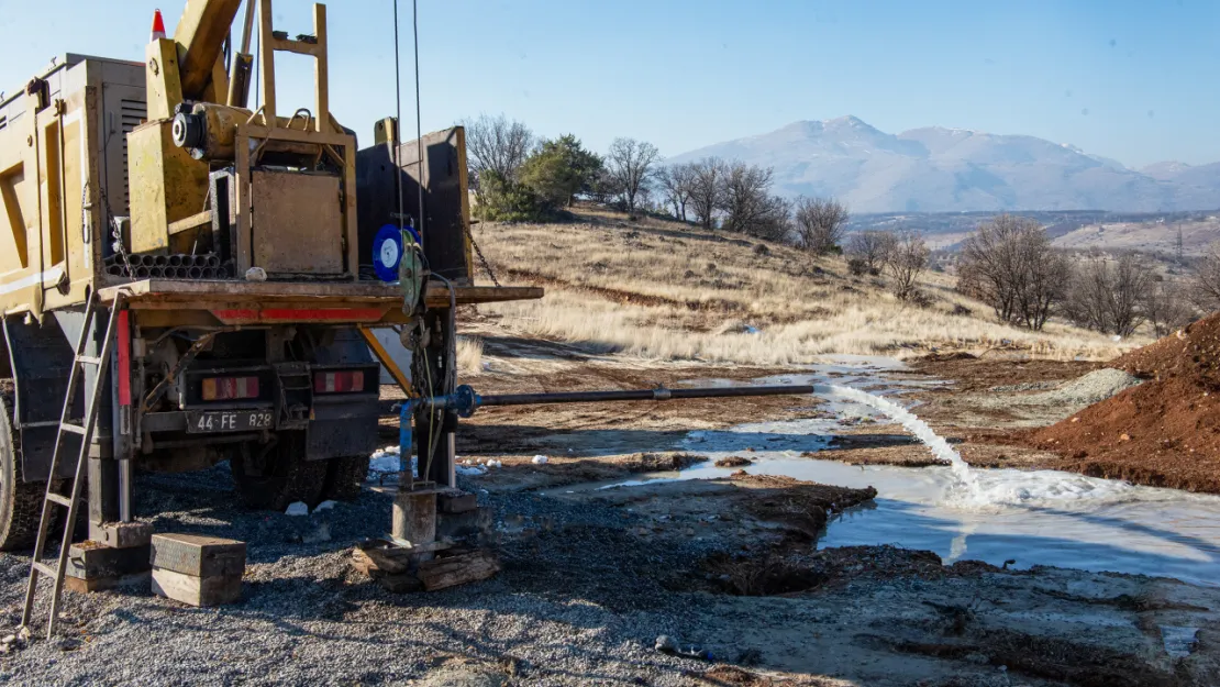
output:
{"label": "square brownish metal panel in the yellow frame on the truck", "polygon": [[250,174],[254,265],[271,275],[342,275],[343,207],[339,177]]}

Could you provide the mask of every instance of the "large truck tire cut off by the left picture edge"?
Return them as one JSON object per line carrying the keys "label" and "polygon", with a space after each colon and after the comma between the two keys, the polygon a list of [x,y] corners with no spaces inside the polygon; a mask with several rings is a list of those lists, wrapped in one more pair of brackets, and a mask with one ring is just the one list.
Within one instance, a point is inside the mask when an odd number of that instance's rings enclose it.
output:
{"label": "large truck tire cut off by the left picture edge", "polygon": [[[5,379],[0,382],[9,384]],[[0,388],[0,550],[28,549],[38,537],[45,482],[26,482],[21,475],[21,439],[12,431],[12,392]]]}

